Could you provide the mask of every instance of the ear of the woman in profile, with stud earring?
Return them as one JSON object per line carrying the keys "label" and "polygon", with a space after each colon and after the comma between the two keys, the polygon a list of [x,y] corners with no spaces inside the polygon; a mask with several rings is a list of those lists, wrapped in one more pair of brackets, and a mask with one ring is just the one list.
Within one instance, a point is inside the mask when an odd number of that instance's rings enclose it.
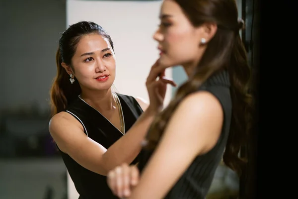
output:
{"label": "ear of the woman in profile, with stud earring", "polygon": [[198,38],[201,43],[201,39],[204,38],[205,42],[208,43],[216,34],[217,31],[217,24],[216,23],[204,23],[200,27],[197,28]]}

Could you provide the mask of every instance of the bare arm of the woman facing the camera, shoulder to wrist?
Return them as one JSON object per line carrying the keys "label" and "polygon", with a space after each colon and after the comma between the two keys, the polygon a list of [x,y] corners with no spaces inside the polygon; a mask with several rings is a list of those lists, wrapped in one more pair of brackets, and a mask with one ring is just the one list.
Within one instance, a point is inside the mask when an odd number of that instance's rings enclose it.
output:
{"label": "bare arm of the woman facing the camera, shoulder to wrist", "polygon": [[[145,108],[146,103],[143,106]],[[108,149],[90,139],[83,132],[82,125],[67,112],[56,114],[50,121],[49,130],[61,151],[84,168],[106,175],[117,165],[130,164],[137,157],[154,115],[155,112],[147,109],[130,130]]]}

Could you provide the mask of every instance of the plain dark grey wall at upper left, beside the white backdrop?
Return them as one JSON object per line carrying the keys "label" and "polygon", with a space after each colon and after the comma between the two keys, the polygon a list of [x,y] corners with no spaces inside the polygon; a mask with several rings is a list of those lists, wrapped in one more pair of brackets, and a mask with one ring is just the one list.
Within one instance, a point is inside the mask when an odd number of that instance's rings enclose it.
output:
{"label": "plain dark grey wall at upper left, beside the white backdrop", "polygon": [[0,110],[48,108],[65,0],[1,0],[0,19]]}

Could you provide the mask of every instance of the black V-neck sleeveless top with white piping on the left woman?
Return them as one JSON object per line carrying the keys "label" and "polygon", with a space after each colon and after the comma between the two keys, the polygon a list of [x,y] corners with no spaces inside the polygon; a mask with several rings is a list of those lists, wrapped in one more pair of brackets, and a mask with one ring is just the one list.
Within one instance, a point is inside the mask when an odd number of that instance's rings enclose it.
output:
{"label": "black V-neck sleeveless top with white piping on the left woman", "polygon": [[[131,96],[117,94],[121,102],[125,122],[125,132],[136,122],[143,110],[137,100]],[[77,98],[66,109],[84,127],[85,134],[95,142],[108,149],[123,134],[100,112]],[[106,176],[96,174],[76,163],[68,154],[62,154],[63,161],[74,182],[79,199],[118,199],[107,185]],[[138,157],[132,164],[138,162]]]}

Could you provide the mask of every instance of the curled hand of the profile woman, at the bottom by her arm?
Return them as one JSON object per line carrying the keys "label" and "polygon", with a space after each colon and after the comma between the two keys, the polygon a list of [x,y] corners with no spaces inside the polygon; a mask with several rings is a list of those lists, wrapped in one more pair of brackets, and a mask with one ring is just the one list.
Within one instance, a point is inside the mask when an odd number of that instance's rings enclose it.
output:
{"label": "curled hand of the profile woman, at the bottom by her arm", "polygon": [[107,183],[113,194],[119,198],[129,197],[139,182],[139,170],[135,165],[124,163],[108,172]]}

